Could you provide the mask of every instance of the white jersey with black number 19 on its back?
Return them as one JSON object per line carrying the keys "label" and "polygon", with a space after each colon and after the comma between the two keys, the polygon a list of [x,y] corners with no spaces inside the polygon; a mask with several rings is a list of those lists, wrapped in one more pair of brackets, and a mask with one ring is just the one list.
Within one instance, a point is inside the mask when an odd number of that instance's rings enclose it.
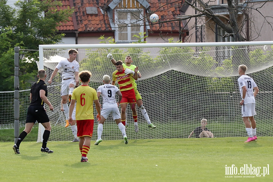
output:
{"label": "white jersey with black number 19 on its back", "polygon": [[238,84],[240,88],[241,97],[243,96],[243,86],[246,86],[247,92],[244,98],[244,104],[255,103],[255,97],[253,95],[253,88],[256,87],[256,83],[252,78],[247,75],[242,75],[238,78]]}

